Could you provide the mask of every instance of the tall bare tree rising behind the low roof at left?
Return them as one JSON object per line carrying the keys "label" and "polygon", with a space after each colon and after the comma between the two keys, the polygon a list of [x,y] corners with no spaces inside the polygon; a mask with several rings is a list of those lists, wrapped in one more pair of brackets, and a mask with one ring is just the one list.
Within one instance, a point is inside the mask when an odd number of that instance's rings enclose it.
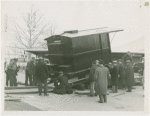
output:
{"label": "tall bare tree rising behind the low roof at left", "polygon": [[45,24],[39,10],[35,10],[33,6],[28,13],[22,16],[22,18],[24,26],[15,22],[15,38],[19,43],[16,44],[16,47],[24,49],[38,47],[40,37],[43,35],[48,23]]}

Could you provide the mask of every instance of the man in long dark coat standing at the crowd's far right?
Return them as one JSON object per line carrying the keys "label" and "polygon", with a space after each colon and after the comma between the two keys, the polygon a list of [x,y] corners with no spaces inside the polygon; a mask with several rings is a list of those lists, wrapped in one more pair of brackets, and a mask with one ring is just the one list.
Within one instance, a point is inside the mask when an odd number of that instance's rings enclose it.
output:
{"label": "man in long dark coat standing at the crowd's far right", "polygon": [[134,85],[134,71],[130,60],[126,61],[125,78],[126,86],[128,88],[127,92],[132,92],[132,86]]}

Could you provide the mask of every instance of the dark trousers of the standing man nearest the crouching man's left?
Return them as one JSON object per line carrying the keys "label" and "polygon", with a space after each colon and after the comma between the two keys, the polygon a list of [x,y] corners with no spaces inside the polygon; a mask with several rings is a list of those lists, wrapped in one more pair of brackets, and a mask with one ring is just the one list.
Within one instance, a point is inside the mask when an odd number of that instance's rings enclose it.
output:
{"label": "dark trousers of the standing man nearest the crouching man's left", "polygon": [[[44,83],[44,95],[47,94],[47,79],[45,79],[43,81]],[[38,80],[38,90],[39,90],[39,95],[42,94],[42,81],[41,80]]]}

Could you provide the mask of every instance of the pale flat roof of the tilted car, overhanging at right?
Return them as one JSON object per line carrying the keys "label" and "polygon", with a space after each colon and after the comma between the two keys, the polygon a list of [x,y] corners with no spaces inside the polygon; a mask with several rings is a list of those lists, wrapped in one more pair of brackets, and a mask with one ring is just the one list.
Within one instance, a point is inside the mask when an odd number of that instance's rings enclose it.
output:
{"label": "pale flat roof of the tilted car, overhanging at right", "polygon": [[[64,36],[64,37],[74,38],[74,37],[80,37],[80,36],[85,36],[85,35],[112,33],[112,32],[118,32],[118,31],[123,31],[123,29],[114,29],[114,28],[105,27],[105,28],[97,28],[97,29],[89,29],[89,30],[81,30],[81,31],[73,30],[73,31],[65,31],[64,33],[60,35],[54,35],[54,36],[55,37]],[[51,36],[51,37],[54,37],[54,36]]]}

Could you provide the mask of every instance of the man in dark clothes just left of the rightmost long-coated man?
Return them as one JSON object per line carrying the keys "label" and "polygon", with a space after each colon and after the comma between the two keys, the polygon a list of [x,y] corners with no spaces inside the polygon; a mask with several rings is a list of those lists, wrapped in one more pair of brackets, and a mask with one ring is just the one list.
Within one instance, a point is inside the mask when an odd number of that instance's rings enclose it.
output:
{"label": "man in dark clothes just left of the rightmost long-coated man", "polygon": [[125,69],[122,60],[118,60],[118,67],[119,67],[119,88],[125,89]]}

